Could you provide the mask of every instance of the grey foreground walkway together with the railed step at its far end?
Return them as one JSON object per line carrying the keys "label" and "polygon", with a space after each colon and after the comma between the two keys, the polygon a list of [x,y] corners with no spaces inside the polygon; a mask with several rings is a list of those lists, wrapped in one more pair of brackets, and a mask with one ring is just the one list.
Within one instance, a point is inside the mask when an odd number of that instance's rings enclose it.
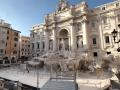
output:
{"label": "grey foreground walkway together with the railed step at its far end", "polygon": [[40,90],[75,90],[73,72],[57,72]]}

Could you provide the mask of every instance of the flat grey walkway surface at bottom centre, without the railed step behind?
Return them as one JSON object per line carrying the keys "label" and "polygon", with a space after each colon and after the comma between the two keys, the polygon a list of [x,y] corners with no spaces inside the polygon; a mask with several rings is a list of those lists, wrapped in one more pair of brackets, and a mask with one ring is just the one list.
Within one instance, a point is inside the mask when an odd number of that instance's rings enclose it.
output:
{"label": "flat grey walkway surface at bottom centre, without the railed step behind", "polygon": [[49,80],[40,90],[75,90],[73,81]]}

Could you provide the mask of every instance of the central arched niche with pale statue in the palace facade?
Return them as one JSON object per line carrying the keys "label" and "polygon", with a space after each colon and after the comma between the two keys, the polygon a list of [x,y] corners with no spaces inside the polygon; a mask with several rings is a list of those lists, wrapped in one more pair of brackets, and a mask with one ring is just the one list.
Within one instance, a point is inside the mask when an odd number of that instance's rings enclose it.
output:
{"label": "central arched niche with pale statue in the palace facade", "polygon": [[66,29],[59,32],[59,50],[69,50],[68,30]]}

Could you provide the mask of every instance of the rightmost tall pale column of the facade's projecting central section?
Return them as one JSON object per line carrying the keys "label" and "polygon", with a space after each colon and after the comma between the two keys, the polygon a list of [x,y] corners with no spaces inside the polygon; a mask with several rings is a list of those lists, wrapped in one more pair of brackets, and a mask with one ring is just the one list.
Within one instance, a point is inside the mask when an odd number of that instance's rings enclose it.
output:
{"label": "rightmost tall pale column of the facade's projecting central section", "polygon": [[88,49],[88,32],[87,32],[87,20],[82,21],[82,30],[83,30],[83,46],[85,49]]}

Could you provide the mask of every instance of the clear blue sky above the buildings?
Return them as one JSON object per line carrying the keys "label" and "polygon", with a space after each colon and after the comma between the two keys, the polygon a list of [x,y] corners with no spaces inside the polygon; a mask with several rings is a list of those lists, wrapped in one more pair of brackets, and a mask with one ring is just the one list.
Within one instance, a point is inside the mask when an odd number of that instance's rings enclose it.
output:
{"label": "clear blue sky above the buildings", "polygon": [[[82,0],[68,0],[75,5]],[[85,0],[90,8],[114,0]],[[21,35],[29,36],[31,27],[44,23],[46,14],[56,10],[59,0],[0,0],[0,19],[4,19],[11,26],[21,31]]]}

